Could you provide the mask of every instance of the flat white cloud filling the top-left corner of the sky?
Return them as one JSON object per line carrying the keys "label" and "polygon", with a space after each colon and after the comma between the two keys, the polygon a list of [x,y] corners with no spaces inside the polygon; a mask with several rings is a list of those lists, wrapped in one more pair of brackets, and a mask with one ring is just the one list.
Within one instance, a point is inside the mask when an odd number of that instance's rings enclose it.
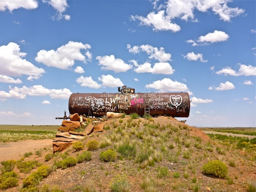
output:
{"label": "flat white cloud filling the top-left corner of the sky", "polygon": [[26,0],[26,1],[10,1],[10,0],[1,0],[0,1],[0,11],[5,11],[6,9],[12,12],[15,9],[36,9],[38,3],[36,0]]}

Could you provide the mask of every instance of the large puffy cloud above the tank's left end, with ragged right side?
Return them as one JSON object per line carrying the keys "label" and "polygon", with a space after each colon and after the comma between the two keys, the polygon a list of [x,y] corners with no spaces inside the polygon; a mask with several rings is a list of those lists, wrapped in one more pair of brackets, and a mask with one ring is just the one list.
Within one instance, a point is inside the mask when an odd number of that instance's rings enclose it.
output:
{"label": "large puffy cloud above the tank's left end, with ragged right side", "polygon": [[[88,49],[91,49],[91,45],[69,41],[66,45],[60,46],[56,51],[39,51],[35,60],[37,62],[42,62],[49,67],[69,69],[74,65],[75,60],[83,61],[85,63],[86,61],[91,61],[92,54]],[[87,51],[85,55],[80,52],[81,50]]]}

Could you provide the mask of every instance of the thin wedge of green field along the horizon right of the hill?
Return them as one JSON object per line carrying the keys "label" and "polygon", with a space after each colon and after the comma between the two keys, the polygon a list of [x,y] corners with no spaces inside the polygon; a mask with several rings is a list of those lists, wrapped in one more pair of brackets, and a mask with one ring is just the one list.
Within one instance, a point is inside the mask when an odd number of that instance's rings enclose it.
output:
{"label": "thin wedge of green field along the horizon right of the hill", "polygon": [[222,133],[256,135],[255,127],[200,127],[198,129],[205,131],[218,131]]}

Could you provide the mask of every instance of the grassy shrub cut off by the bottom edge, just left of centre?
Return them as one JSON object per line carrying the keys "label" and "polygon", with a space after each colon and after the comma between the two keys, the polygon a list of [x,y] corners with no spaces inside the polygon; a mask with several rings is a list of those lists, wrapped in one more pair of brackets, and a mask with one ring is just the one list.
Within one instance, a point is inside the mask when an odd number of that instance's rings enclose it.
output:
{"label": "grassy shrub cut off by the bottom edge, just left of centre", "polygon": [[111,182],[111,189],[113,192],[129,192],[131,185],[125,176],[117,175]]}

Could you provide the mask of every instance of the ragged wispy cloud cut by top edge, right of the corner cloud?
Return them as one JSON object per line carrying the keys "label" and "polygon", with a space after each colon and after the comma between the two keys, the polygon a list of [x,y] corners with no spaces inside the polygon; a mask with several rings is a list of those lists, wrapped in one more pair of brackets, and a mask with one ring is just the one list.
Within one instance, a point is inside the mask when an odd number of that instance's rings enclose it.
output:
{"label": "ragged wispy cloud cut by top edge, right of the corner cloud", "polygon": [[70,15],[68,14],[63,14],[67,10],[68,3],[67,0],[43,0],[43,3],[48,3],[51,5],[55,10],[57,10],[58,14],[57,17],[53,17],[53,19],[60,20],[62,18],[66,20],[70,20]]}

